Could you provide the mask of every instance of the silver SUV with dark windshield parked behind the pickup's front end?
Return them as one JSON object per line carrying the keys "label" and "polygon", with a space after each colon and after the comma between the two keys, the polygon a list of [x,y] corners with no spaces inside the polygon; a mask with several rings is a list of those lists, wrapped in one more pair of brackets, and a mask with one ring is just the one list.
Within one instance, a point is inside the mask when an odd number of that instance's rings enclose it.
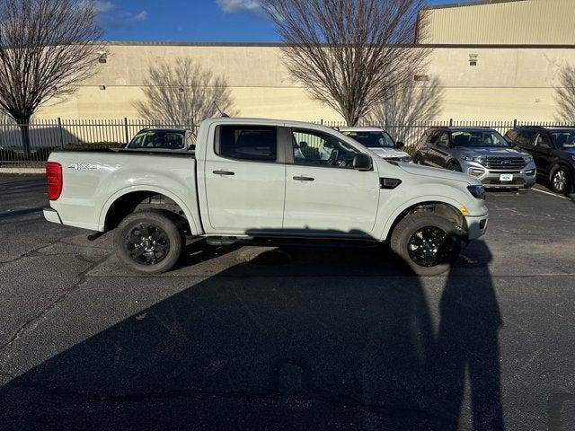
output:
{"label": "silver SUV with dark windshield parked behind the pickup's front end", "polygon": [[533,157],[519,153],[491,128],[429,128],[413,157],[415,163],[464,172],[493,189],[530,189]]}

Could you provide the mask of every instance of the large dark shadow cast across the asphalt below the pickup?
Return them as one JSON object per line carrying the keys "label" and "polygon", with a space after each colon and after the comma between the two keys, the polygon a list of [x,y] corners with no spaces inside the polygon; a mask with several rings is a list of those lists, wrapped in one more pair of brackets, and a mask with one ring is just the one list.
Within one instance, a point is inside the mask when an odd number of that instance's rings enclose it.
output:
{"label": "large dark shadow cast across the asphalt below the pickup", "polygon": [[332,250],[302,277],[298,250],[273,251],[290,256],[274,276],[240,262],[6,383],[2,428],[503,429],[486,265],[347,276],[376,251]]}

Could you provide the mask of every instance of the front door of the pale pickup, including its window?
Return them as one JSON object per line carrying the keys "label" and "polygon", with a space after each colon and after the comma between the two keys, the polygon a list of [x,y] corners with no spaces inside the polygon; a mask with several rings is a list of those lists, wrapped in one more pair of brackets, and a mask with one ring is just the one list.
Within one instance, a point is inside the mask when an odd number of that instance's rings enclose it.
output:
{"label": "front door of the pale pickup, including its window", "polygon": [[286,168],[284,231],[368,236],[379,203],[377,168],[353,169],[359,151],[336,136],[312,129],[292,129],[291,135],[293,164]]}

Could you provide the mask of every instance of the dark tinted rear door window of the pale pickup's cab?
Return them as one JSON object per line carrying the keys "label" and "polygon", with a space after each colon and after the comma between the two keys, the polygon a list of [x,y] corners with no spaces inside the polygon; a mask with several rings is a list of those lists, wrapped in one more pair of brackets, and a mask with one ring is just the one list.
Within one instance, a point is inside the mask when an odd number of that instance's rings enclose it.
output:
{"label": "dark tinted rear door window of the pale pickup's cab", "polygon": [[278,128],[268,126],[219,126],[216,153],[222,157],[254,162],[278,159]]}

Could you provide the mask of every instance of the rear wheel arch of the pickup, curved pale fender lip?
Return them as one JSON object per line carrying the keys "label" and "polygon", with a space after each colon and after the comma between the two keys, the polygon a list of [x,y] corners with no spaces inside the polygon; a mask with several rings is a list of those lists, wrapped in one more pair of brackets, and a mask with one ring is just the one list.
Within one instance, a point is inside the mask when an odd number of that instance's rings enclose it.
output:
{"label": "rear wheel arch of the pickup, curved pale fender lip", "polygon": [[142,206],[173,212],[185,220],[191,235],[199,234],[199,224],[196,223],[190,207],[169,190],[151,186],[122,189],[108,198],[100,214],[98,223],[100,230],[114,229],[124,217]]}

